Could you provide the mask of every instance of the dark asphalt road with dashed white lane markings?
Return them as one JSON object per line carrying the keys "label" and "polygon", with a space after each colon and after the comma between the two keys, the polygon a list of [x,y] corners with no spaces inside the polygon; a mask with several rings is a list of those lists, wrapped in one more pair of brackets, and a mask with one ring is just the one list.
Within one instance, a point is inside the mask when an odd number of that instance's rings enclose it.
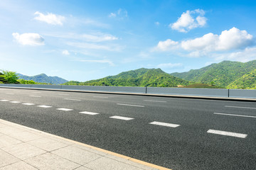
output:
{"label": "dark asphalt road with dashed white lane markings", "polygon": [[174,170],[256,169],[253,102],[0,88],[0,118]]}

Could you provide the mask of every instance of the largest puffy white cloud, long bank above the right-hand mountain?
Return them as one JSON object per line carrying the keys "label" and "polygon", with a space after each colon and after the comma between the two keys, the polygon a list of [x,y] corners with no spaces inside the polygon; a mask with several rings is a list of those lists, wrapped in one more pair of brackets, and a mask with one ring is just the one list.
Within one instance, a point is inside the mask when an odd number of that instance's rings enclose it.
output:
{"label": "largest puffy white cloud, long bank above the right-hand mountain", "polygon": [[238,50],[254,44],[253,36],[246,30],[231,28],[224,30],[220,35],[208,33],[201,38],[181,42],[183,50],[227,51]]}

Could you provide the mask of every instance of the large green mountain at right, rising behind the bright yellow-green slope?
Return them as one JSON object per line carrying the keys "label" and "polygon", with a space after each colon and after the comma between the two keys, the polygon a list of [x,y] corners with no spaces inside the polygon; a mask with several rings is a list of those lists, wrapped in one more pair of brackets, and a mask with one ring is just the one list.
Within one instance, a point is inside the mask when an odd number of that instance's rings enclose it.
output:
{"label": "large green mountain at right, rising behind the bright yellow-green slope", "polygon": [[210,64],[201,69],[191,69],[189,72],[176,72],[171,75],[187,81],[228,87],[229,84],[252,72],[255,68],[256,60],[245,63],[223,61],[218,64]]}

